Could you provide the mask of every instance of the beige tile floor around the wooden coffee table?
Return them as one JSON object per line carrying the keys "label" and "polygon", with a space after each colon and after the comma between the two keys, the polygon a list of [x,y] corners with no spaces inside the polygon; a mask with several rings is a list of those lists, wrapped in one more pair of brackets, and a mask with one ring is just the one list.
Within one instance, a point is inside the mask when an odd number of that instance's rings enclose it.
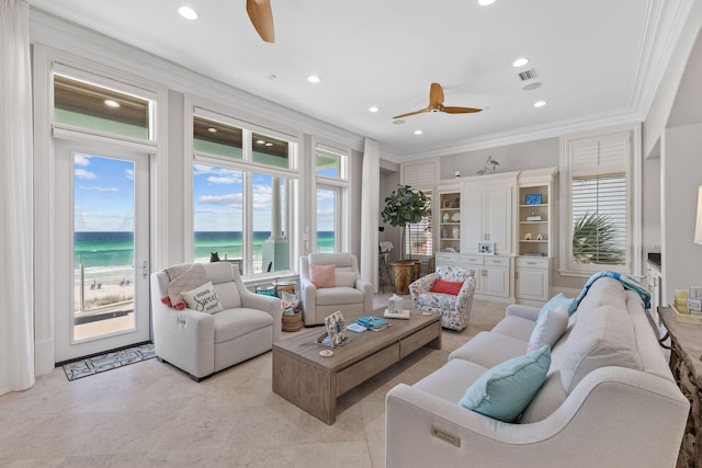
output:
{"label": "beige tile floor around the wooden coffee table", "polygon": [[75,381],[57,367],[0,396],[0,466],[383,467],[385,393],[439,368],[505,307],[475,299],[465,330],[341,396],[331,426],[272,392],[270,352],[200,384],[156,359]]}

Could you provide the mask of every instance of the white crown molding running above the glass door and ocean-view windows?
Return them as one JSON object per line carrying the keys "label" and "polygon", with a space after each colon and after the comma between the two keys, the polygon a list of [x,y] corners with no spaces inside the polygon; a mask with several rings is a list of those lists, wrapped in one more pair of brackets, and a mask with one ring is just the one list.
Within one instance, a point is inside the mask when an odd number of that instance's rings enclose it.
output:
{"label": "white crown molding running above the glass door and ocean-view windows", "polygon": [[298,129],[301,134],[324,137],[363,151],[364,138],[361,135],[247,93],[33,7],[30,8],[30,37],[32,44],[70,52],[77,57],[161,83],[173,91],[231,103],[249,118],[256,118],[259,125],[275,128],[282,124]]}

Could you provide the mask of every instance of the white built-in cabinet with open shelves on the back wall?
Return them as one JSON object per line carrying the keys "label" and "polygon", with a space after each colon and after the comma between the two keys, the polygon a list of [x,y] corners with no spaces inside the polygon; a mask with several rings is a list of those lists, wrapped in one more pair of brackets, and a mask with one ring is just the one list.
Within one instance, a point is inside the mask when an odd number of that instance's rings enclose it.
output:
{"label": "white built-in cabinet with open shelves on the back wall", "polygon": [[547,168],[441,181],[437,265],[475,270],[478,297],[548,300],[555,175]]}

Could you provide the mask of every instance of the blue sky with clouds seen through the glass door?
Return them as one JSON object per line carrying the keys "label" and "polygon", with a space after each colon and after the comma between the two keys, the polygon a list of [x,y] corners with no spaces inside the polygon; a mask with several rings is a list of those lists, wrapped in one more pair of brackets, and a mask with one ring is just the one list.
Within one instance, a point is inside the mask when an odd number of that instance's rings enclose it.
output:
{"label": "blue sky with clouds seen through the glass door", "polygon": [[75,231],[134,230],[134,162],[77,153]]}

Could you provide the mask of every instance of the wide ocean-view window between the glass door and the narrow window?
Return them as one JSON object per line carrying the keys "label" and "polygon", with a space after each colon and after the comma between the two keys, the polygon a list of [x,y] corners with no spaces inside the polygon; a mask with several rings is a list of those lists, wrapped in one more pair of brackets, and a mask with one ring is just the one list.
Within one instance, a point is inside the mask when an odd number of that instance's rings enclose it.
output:
{"label": "wide ocean-view window between the glass door and the narrow window", "polygon": [[295,142],[201,111],[193,119],[193,256],[244,275],[291,270]]}

